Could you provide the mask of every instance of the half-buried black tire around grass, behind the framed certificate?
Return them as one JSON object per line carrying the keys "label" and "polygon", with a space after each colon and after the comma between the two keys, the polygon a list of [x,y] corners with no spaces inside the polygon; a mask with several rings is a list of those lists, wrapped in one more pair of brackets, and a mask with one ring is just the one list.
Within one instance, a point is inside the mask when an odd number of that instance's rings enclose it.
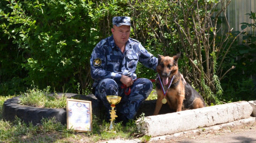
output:
{"label": "half-buried black tire around grass, behind the framed certificate", "polygon": [[[58,96],[61,97],[63,93],[58,93]],[[53,93],[49,96],[53,96]],[[92,113],[96,116],[99,115],[99,110],[101,108],[99,104],[99,100],[93,95],[89,94],[79,95],[73,93],[65,93],[67,98],[75,98],[80,100],[89,100],[92,105]],[[31,107],[26,105],[20,105],[20,96],[10,98],[6,100],[3,104],[3,117],[6,120],[13,121],[15,120],[15,116],[23,120],[26,124],[30,122],[33,125],[41,124],[41,120],[43,118],[51,119],[55,118],[56,121],[59,121],[61,124],[67,124],[67,109],[66,108],[38,108]]]}

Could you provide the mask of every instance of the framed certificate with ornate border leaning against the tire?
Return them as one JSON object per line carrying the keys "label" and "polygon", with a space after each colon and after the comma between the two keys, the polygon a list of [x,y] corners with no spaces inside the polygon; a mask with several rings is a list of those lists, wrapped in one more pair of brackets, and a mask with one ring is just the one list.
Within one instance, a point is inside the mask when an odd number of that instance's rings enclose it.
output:
{"label": "framed certificate with ornate border leaning against the tire", "polygon": [[67,128],[79,132],[92,130],[91,101],[67,98]]}

